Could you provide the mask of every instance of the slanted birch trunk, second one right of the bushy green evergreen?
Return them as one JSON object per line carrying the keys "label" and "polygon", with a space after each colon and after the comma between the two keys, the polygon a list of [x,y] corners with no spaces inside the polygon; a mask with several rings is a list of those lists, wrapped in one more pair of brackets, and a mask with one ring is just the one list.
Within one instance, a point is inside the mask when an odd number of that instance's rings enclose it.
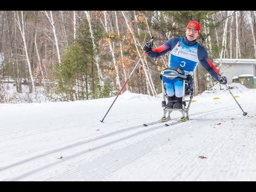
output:
{"label": "slanted birch trunk, second one right of the bushy green evergreen", "polygon": [[[107,14],[108,13],[107,13],[107,11],[103,11],[103,13],[104,13],[104,18],[105,18],[105,30],[109,34],[109,27],[108,27],[108,22],[107,22]],[[115,73],[116,74],[116,85],[118,86],[118,88],[121,89],[121,83],[120,83],[120,77],[119,77],[119,68],[116,65],[116,57],[115,57],[115,53],[114,53],[114,49],[113,49],[113,46],[112,46],[111,39],[109,39],[108,45],[109,45],[109,49],[110,49],[110,52],[111,52],[111,55],[112,55],[112,59],[113,59],[113,62],[114,62],[114,68],[115,68],[115,72],[116,72]]]}

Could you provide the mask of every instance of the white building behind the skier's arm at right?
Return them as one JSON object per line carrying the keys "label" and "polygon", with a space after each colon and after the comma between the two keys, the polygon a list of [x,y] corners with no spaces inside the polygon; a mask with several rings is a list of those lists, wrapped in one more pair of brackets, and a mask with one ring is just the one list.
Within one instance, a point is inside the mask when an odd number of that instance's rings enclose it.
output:
{"label": "white building behind the skier's arm at right", "polygon": [[256,59],[214,59],[214,65],[220,74],[227,77],[228,84],[235,76],[251,74],[256,76]]}

